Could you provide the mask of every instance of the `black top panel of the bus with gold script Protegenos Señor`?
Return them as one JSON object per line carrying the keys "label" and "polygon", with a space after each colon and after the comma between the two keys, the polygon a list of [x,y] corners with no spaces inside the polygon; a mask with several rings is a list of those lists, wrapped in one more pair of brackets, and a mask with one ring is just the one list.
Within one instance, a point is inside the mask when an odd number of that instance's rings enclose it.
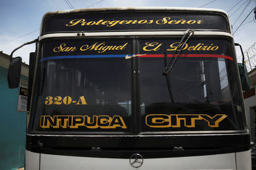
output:
{"label": "black top panel of the bus with gold script Protegenos Se\u00f1or", "polygon": [[177,31],[185,29],[230,32],[228,19],[202,11],[102,11],[51,14],[43,20],[42,35],[56,32]]}

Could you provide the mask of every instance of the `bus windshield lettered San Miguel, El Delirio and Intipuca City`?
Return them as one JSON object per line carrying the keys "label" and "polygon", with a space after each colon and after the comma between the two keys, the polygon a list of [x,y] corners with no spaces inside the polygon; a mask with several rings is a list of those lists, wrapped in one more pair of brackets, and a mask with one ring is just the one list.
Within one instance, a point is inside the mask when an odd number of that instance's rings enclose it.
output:
{"label": "bus windshield lettered San Miguel, El Delirio and Intipuca City", "polygon": [[135,123],[142,134],[244,130],[232,41],[192,37],[169,75],[170,96],[164,50],[169,61],[179,40],[44,41],[32,131],[133,134]]}

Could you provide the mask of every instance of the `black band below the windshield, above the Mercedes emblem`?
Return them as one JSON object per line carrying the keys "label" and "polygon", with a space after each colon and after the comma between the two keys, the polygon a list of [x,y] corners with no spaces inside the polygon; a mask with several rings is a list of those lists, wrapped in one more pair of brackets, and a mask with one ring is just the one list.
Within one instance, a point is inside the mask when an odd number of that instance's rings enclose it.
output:
{"label": "black band below the windshield, above the Mercedes emblem", "polygon": [[130,159],[135,153],[141,154],[144,159],[177,158],[248,151],[249,139],[249,134],[157,135],[155,137],[27,135],[26,150],[41,154],[92,158]]}

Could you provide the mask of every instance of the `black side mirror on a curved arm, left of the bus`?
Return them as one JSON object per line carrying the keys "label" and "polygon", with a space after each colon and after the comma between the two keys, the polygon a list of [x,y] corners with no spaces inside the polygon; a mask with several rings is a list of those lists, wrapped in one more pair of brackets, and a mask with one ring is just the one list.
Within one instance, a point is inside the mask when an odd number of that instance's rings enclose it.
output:
{"label": "black side mirror on a curved arm, left of the bus", "polygon": [[22,58],[12,58],[8,70],[9,88],[17,88],[19,86],[20,71],[22,67]]}

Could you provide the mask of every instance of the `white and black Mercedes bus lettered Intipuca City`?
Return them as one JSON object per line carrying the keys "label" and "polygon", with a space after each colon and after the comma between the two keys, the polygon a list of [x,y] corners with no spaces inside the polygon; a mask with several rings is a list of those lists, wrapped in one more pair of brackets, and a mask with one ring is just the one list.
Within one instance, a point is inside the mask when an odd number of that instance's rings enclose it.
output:
{"label": "white and black Mercedes bus lettered Intipuca City", "polygon": [[251,169],[225,11],[48,12],[32,42],[26,170]]}

